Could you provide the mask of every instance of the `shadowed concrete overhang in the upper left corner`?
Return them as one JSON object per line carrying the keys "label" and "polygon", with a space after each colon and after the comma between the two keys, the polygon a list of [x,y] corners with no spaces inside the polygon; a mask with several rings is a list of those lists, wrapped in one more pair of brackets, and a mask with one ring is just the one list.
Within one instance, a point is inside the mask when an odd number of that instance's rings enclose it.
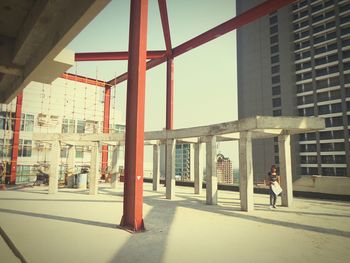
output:
{"label": "shadowed concrete overhang in the upper left corner", "polygon": [[0,103],[74,64],[64,48],[111,0],[0,1]]}

